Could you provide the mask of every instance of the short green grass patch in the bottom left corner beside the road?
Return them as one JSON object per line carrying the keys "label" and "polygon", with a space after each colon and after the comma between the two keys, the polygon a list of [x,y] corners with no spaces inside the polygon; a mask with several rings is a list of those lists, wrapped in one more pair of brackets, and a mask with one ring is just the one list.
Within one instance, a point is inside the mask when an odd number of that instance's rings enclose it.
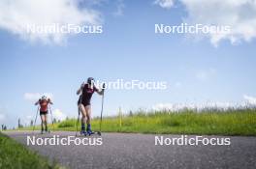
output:
{"label": "short green grass patch in the bottom left corner beside the road", "polygon": [[50,164],[47,158],[29,151],[25,146],[0,132],[0,168],[60,169],[61,167],[55,163]]}

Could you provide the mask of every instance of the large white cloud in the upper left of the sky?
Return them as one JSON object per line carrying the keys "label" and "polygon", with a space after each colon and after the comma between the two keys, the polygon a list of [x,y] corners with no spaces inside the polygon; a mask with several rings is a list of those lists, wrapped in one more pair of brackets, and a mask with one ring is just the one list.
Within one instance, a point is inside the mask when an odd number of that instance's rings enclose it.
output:
{"label": "large white cloud in the upper left of the sky", "polygon": [[2,0],[0,29],[29,42],[63,44],[67,34],[28,33],[27,24],[99,24],[101,15],[92,9],[80,8],[80,0]]}

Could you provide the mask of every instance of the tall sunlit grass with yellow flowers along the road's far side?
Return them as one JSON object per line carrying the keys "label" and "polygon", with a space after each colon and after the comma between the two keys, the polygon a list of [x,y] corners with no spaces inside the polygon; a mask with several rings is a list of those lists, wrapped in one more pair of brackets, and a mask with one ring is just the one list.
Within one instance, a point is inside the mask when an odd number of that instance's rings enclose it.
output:
{"label": "tall sunlit grass with yellow flowers along the road's far side", "polygon": [[[99,118],[93,119],[92,128],[99,130],[99,123]],[[76,119],[55,124],[54,128],[55,130],[76,130]],[[31,127],[24,129],[31,129]],[[131,115],[105,117],[102,130],[105,132],[256,136],[256,109],[200,113],[189,110],[178,113],[137,112]]]}

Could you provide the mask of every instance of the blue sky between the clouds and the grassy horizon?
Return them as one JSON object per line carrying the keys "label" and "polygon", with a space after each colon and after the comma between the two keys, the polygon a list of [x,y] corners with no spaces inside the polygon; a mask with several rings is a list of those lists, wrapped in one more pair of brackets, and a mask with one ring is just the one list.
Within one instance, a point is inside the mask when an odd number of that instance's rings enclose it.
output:
{"label": "blue sky between the clouds and the grassy horizon", "polygon": [[[171,6],[157,1],[86,2],[78,11],[100,13],[104,33],[68,36],[64,44],[24,39],[3,26],[0,13],[0,124],[14,127],[17,118],[23,123],[34,118],[33,100],[24,97],[28,93],[50,93],[54,111],[77,117],[76,90],[88,76],[100,81],[168,82],[165,91],[107,90],[107,115],[116,114],[119,106],[136,110],[158,103],[240,102],[244,95],[256,97],[254,34],[246,41],[240,33],[236,43],[226,37],[215,46],[208,37],[154,33],[154,24],[180,24],[193,13],[185,2]],[[92,102],[93,115],[99,116],[100,96]]]}

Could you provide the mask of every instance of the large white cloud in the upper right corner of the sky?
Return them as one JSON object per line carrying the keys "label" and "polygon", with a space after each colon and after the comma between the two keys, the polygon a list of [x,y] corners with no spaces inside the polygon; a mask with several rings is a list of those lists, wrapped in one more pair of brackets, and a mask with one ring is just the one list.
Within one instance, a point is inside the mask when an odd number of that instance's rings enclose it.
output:
{"label": "large white cloud in the upper right corner of the sky", "polygon": [[[250,42],[256,38],[256,1],[255,0],[179,0],[187,11],[183,22],[188,24],[230,26],[231,31],[210,33],[206,36],[217,46],[222,40],[232,44],[242,41]],[[166,2],[156,0],[155,2]],[[167,7],[173,6],[172,2]]]}

